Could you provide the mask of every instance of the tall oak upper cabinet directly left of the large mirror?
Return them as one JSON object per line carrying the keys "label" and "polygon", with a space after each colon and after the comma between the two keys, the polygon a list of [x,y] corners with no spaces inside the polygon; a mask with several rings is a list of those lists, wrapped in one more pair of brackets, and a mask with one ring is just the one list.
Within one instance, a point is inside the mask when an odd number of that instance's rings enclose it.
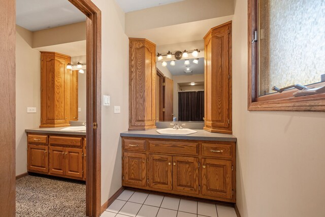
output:
{"label": "tall oak upper cabinet directly left of the large mirror", "polygon": [[129,39],[129,130],[149,130],[156,117],[156,45]]}

